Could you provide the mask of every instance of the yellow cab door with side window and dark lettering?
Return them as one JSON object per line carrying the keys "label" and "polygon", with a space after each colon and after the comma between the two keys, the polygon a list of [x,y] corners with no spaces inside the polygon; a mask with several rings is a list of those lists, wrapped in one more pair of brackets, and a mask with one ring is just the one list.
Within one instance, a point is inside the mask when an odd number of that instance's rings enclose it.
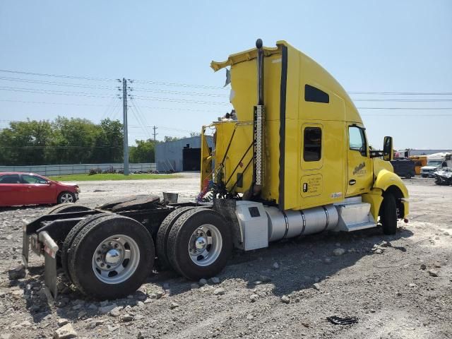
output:
{"label": "yellow cab door with side window and dark lettering", "polygon": [[367,147],[364,128],[356,124],[348,126],[347,196],[357,196],[371,189],[373,169]]}

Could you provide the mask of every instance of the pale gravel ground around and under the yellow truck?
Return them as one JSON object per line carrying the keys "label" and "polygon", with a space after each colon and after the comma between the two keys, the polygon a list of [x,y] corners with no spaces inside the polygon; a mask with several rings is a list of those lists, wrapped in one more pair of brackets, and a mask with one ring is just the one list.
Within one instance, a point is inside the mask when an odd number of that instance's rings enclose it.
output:
{"label": "pale gravel ground around and under the yellow truck", "polygon": [[[134,295],[108,302],[63,286],[49,304],[41,258],[31,256],[26,275],[14,270],[23,220],[47,207],[0,210],[0,338],[452,338],[452,187],[405,183],[410,222],[395,236],[375,229],[278,242],[234,253],[218,280],[155,273]],[[87,206],[161,191],[183,201],[196,196],[198,174],[81,189]],[[358,322],[333,325],[327,316]]]}

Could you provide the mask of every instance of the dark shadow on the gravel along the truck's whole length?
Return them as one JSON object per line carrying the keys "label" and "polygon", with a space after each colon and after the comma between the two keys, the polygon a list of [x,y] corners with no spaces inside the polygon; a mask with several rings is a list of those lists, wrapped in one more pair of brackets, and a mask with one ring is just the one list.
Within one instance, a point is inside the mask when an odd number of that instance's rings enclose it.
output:
{"label": "dark shadow on the gravel along the truck's whole length", "polygon": [[[398,249],[400,255],[405,255],[405,247],[391,246],[391,242],[411,236],[410,230],[400,227],[398,233],[392,236],[383,235],[379,228],[374,228],[353,233],[331,232],[288,239],[270,244],[267,249],[249,252],[234,251],[227,267],[218,277],[221,281],[243,280],[249,289],[254,289],[261,284],[271,284],[274,286],[271,291],[273,295],[289,295],[291,292],[314,287],[314,283],[321,283],[322,280],[330,278],[340,270],[354,266],[357,261],[366,256],[379,256],[372,249],[385,251],[392,247]],[[388,247],[379,246],[383,241],[387,242],[385,246]],[[340,251],[343,254],[335,255],[335,249],[343,249]],[[146,283],[154,285],[155,291],[148,289],[142,292],[143,289],[141,289],[129,298],[109,302],[89,299],[77,290],[73,290],[69,284],[63,283],[59,287],[61,292],[55,305],[51,306],[44,292],[43,266],[30,267],[28,270],[30,278],[10,280],[10,285],[20,287],[27,309],[35,322],[51,314],[51,307],[57,307],[56,311],[60,317],[70,320],[85,319],[105,314],[109,308],[115,306],[124,308],[136,306],[138,302],[144,302],[147,299],[145,292],[151,294],[165,291],[171,295],[179,295],[191,290],[191,284],[196,283],[180,277],[173,271],[153,273]],[[227,288],[227,285],[221,286]]]}

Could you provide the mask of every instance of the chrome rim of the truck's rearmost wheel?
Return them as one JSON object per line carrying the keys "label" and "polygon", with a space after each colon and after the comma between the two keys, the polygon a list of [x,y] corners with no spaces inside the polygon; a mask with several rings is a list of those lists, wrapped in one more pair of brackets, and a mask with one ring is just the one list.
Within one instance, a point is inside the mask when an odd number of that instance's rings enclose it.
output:
{"label": "chrome rim of the truck's rearmost wheel", "polygon": [[103,240],[93,254],[93,272],[106,284],[123,283],[135,273],[140,251],[135,240],[116,234]]}

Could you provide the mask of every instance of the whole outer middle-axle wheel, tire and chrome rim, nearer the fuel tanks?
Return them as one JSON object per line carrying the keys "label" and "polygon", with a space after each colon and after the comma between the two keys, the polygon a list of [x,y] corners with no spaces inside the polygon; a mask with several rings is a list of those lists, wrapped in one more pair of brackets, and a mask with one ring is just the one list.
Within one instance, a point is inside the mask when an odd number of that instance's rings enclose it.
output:
{"label": "whole outer middle-axle wheel, tire and chrome rim, nearer the fuel tanks", "polygon": [[198,280],[218,274],[232,252],[232,233],[215,210],[194,209],[174,223],[167,242],[169,261],[186,278]]}

